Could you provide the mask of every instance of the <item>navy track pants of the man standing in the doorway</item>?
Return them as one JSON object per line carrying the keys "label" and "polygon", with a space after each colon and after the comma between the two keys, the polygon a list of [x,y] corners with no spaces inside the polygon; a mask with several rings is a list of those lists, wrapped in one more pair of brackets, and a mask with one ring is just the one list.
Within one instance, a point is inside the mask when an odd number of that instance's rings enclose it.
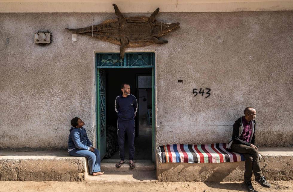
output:
{"label": "navy track pants of the man standing in the doorway", "polygon": [[129,148],[129,160],[133,160],[134,157],[134,136],[135,136],[135,124],[134,120],[129,122],[117,122],[118,144],[120,159],[124,161],[124,141],[125,134],[127,134],[128,148]]}

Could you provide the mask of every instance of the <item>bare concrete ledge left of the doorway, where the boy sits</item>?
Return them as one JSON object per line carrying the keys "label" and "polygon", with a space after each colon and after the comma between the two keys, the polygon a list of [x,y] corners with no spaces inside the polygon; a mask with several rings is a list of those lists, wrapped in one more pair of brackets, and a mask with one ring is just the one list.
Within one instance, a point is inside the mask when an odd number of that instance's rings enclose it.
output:
{"label": "bare concrete ledge left of the doorway, where the boy sits", "polygon": [[65,151],[0,152],[1,181],[85,181],[86,158]]}

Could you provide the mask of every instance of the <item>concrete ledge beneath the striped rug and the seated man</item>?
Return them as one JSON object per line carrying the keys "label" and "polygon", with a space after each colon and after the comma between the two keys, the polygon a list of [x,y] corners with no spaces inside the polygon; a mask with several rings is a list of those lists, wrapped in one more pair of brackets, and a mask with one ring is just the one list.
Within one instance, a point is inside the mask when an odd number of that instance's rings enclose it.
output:
{"label": "concrete ledge beneath the striped rug and the seated man", "polygon": [[[293,148],[260,148],[261,167],[268,180],[293,180]],[[156,158],[158,160],[158,156]],[[159,163],[157,179],[161,182],[243,181],[245,162],[233,163]]]}

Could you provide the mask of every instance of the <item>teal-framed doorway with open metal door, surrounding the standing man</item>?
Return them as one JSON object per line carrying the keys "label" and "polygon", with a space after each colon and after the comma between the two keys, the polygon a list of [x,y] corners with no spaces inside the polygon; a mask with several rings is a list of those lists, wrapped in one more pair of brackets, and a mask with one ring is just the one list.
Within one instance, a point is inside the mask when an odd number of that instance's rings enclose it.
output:
{"label": "teal-framed doorway with open metal door, surrounding the standing man", "polygon": [[[131,94],[138,102],[135,117],[135,159],[154,162],[154,53],[96,53],[97,63],[97,148],[101,159],[120,159],[117,139],[115,99],[120,85],[129,83]],[[129,158],[125,138],[125,159]]]}

